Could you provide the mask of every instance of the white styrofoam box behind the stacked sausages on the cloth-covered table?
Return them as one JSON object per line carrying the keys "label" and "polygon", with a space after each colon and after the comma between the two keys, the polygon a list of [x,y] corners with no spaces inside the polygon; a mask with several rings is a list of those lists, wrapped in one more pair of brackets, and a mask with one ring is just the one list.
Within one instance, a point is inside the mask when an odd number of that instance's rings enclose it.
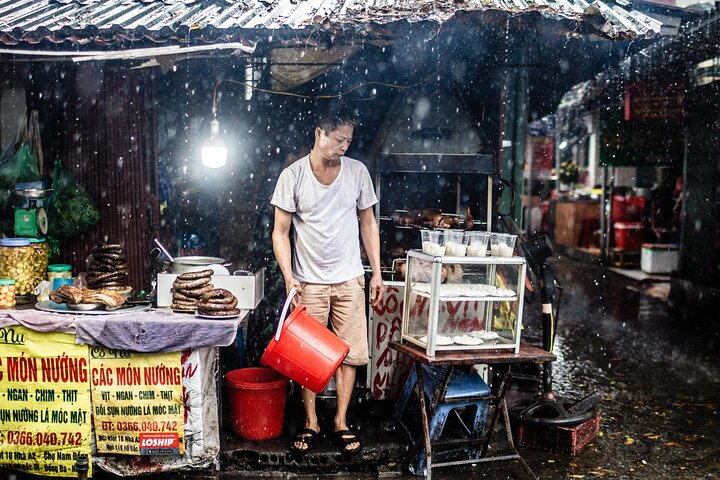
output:
{"label": "white styrofoam box behind the stacked sausages on the cloth-covered table", "polygon": [[[159,273],[157,284],[158,307],[169,307],[172,304],[172,283],[175,273]],[[238,299],[237,308],[253,310],[265,296],[265,270],[260,269],[254,275],[213,275],[210,283],[215,288],[224,288]]]}

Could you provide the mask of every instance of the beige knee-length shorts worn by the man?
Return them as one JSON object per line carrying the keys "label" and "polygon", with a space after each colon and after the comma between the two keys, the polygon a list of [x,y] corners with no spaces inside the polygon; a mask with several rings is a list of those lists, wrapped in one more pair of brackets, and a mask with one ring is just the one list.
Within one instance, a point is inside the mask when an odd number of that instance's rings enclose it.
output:
{"label": "beige knee-length shorts worn by the man", "polygon": [[343,363],[368,363],[367,318],[365,315],[365,276],[335,285],[301,283],[300,303],[317,321],[327,326],[350,346]]}

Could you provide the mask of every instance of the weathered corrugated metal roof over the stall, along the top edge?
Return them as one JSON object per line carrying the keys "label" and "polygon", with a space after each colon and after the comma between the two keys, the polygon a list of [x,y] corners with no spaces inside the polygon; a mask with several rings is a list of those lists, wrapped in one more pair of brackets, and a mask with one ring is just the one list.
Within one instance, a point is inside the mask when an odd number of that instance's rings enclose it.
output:
{"label": "weathered corrugated metal roof over the stall, along the top edge", "polygon": [[113,44],[236,41],[253,32],[321,27],[362,32],[393,22],[443,23],[457,12],[540,12],[610,38],[653,37],[660,22],[626,0],[0,0],[0,42]]}

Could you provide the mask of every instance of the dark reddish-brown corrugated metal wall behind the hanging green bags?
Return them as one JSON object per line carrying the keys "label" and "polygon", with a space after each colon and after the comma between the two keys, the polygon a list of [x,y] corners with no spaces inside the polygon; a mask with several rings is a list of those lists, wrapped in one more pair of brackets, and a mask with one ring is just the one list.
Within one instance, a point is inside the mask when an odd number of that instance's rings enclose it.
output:
{"label": "dark reddish-brown corrugated metal wall behind the hanging green bags", "polygon": [[159,219],[154,81],[142,71],[86,66],[66,70],[65,76],[62,86],[48,87],[54,108],[38,99],[40,109],[47,108],[47,169],[61,158],[97,202],[101,218],[89,231],[62,242],[60,260],[77,273],[84,271],[96,242],[120,243],[137,291],[146,287],[146,255]]}

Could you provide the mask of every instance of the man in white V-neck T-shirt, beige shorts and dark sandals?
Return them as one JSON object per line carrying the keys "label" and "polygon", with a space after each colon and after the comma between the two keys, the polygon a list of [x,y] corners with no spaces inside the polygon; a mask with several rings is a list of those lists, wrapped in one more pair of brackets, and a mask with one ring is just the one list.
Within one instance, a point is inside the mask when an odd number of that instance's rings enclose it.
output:
{"label": "man in white V-neck T-shirt, beige shorts and dark sandals", "polygon": [[[307,312],[325,325],[329,321],[333,331],[350,346],[350,353],[335,372],[337,410],[333,420],[333,438],[340,451],[348,454],[362,449],[360,437],[348,427],[346,414],[355,369],[368,362],[365,276],[358,233],[372,267],[372,306],[380,302],[385,290],[380,275],[380,236],[372,211],[378,200],[367,168],[344,156],[354,127],[348,116],[321,118],[310,154],[282,171],[270,201],[275,206],[273,250],[286,291],[297,289]],[[291,225],[295,231],[294,256]],[[304,454],[312,447],[320,426],[315,393],[303,388],[301,395],[305,428],[290,444],[290,450]]]}

